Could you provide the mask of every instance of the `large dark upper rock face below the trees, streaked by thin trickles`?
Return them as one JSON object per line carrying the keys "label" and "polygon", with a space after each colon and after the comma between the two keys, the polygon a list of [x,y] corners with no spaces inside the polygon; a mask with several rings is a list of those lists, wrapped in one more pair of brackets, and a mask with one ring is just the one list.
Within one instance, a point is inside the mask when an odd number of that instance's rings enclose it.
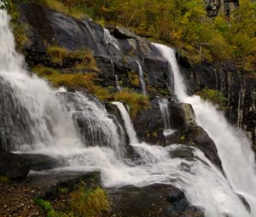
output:
{"label": "large dark upper rock face below the trees, streaked by thin trickles", "polygon": [[22,3],[20,14],[20,20],[30,26],[29,43],[26,44],[26,61],[29,65],[44,64],[52,67],[46,56],[47,44],[70,50],[87,48],[93,52],[96,65],[101,70],[99,83],[102,86],[114,87],[117,75],[120,86],[141,91],[141,85],[134,87],[129,77],[131,71],[139,74],[138,60],[143,68],[146,85],[169,94],[167,83],[173,83],[173,78],[169,75],[168,62],[148,40],[138,37],[130,30],[109,28],[112,37],[115,37],[115,43],[118,43],[117,48],[113,43],[106,42],[102,26],[92,20],[77,20],[35,3]]}

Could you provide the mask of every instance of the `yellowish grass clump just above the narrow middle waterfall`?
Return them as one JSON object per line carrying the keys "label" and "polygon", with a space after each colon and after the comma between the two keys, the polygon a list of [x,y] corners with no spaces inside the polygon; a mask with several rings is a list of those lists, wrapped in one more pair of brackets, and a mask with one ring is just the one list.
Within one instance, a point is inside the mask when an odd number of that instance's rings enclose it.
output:
{"label": "yellowish grass clump just above the narrow middle waterfall", "polygon": [[114,100],[122,101],[130,106],[131,118],[135,118],[138,111],[148,109],[149,107],[148,96],[134,93],[130,89],[122,89],[117,94],[114,94]]}

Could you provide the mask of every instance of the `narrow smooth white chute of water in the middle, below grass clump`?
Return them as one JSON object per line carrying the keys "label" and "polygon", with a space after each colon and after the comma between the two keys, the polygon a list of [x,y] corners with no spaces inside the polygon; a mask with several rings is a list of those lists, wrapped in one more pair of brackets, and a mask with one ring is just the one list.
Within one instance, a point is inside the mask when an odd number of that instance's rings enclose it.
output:
{"label": "narrow smooth white chute of water in the middle, below grass clump", "polygon": [[131,144],[137,144],[138,140],[137,140],[137,134],[133,128],[133,125],[131,123],[131,118],[129,113],[127,112],[127,110],[125,109],[125,106],[123,103],[121,102],[113,102],[113,105],[118,106],[119,111],[121,113],[121,116],[125,122],[125,128],[126,128],[126,132],[128,134],[129,140]]}

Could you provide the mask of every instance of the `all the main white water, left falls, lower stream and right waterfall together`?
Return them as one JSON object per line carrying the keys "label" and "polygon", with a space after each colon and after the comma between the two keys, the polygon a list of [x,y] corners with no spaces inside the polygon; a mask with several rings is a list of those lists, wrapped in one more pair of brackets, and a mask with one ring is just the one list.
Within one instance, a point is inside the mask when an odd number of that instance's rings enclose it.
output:
{"label": "all the main white water, left falls, lower stream and right waterfall together", "polygon": [[[9,136],[6,140],[17,137],[11,140],[13,144],[0,140],[1,146],[12,151],[64,157],[67,169],[100,170],[104,186],[154,183],[177,186],[191,203],[205,208],[210,217],[255,216],[254,210],[251,215],[247,212],[234,192],[246,197],[252,209],[256,207],[252,152],[213,106],[185,93],[172,49],[156,45],[170,60],[179,100],[194,106],[198,122],[216,142],[229,182],[199,150],[195,149],[194,154],[201,160],[187,161],[170,157],[170,151],[183,148],[182,145],[161,147],[138,143],[125,106],[114,102],[138,155],[136,161],[125,159],[124,129],[104,106],[89,95],[51,89],[44,80],[29,75],[22,57],[15,52],[14,42],[9,16],[0,11],[0,95],[3,97],[0,106],[1,118],[5,115],[7,118],[0,123],[0,130],[1,135]],[[13,108],[16,113],[9,115]],[[10,128],[17,128],[18,133],[9,134]],[[23,129],[26,134],[22,134]]]}

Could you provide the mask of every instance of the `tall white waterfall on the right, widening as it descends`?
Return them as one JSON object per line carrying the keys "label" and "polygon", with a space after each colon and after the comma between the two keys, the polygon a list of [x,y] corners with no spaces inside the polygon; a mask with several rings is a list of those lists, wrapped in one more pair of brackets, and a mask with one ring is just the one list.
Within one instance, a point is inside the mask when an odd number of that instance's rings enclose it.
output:
{"label": "tall white waterfall on the right, widening as it descends", "polygon": [[256,216],[256,176],[251,144],[245,135],[231,127],[224,115],[209,102],[201,100],[199,96],[186,94],[175,51],[165,45],[154,45],[172,66],[178,100],[193,106],[197,123],[206,129],[217,146],[218,156],[230,186],[237,194],[247,199],[252,208],[251,216]]}

